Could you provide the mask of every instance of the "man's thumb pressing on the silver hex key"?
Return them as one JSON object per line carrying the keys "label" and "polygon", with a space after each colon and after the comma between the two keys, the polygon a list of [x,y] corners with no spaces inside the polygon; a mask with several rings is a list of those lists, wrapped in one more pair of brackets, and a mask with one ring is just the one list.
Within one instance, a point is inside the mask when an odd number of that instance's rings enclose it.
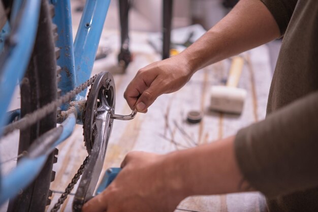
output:
{"label": "man's thumb pressing on the silver hex key", "polygon": [[161,90],[154,89],[154,85],[143,91],[136,102],[136,109],[138,112],[146,112],[148,107],[157,99],[158,96],[162,94]]}

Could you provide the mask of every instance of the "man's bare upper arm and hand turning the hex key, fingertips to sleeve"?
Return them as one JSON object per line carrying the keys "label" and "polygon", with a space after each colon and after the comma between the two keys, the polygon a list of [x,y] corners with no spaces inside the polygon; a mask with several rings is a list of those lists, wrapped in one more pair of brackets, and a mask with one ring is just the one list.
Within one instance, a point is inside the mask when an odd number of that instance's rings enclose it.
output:
{"label": "man's bare upper arm and hand turning the hex key, fingertips to sleeve", "polygon": [[274,17],[261,1],[241,0],[180,54],[140,69],[126,88],[124,98],[131,109],[147,112],[158,96],[180,89],[197,70],[279,36]]}

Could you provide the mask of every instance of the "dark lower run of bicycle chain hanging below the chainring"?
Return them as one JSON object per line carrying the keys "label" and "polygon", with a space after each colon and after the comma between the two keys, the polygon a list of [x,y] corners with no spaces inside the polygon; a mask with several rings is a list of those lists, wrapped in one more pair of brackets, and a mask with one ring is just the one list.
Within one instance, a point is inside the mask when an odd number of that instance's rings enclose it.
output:
{"label": "dark lower run of bicycle chain hanging below the chainring", "polygon": [[66,200],[68,195],[73,190],[74,186],[77,184],[78,179],[83,174],[85,165],[88,161],[89,156],[85,158],[83,161],[83,164],[80,166],[80,168],[77,170],[77,173],[74,175],[74,177],[71,180],[71,183],[69,183],[68,187],[66,187],[65,192],[61,194],[61,196],[58,198],[57,202],[54,204],[53,208],[50,212],[57,212],[60,206],[63,204],[63,202]]}

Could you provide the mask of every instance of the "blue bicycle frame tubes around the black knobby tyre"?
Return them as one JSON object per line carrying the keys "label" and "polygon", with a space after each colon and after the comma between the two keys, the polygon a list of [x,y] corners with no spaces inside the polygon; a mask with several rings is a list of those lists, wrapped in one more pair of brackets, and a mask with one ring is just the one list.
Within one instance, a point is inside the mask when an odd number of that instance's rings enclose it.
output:
{"label": "blue bicycle frame tubes around the black knobby tyre", "polygon": [[[55,6],[53,22],[58,28],[56,47],[60,48],[60,58],[57,65],[61,67],[61,81],[58,87],[66,94],[76,86],[86,81],[91,74],[95,55],[110,0],[86,0],[80,25],[73,44],[72,18],[70,0],[50,0]],[[7,37],[9,53],[0,57],[0,134],[9,117],[7,108],[13,95],[16,83],[21,80],[30,59],[35,42],[39,19],[40,0],[16,0],[12,8],[12,29]],[[21,8],[23,10],[21,10]],[[21,21],[19,21],[21,20]],[[8,31],[6,24],[6,33]],[[1,45],[0,45],[1,46]],[[73,101],[85,99],[86,90],[77,95]],[[62,105],[67,110],[68,104]],[[56,145],[68,138],[77,122],[77,110],[69,113],[60,127],[54,142],[49,142],[49,150],[45,154],[28,156],[21,159],[17,167],[7,175],[0,175],[0,205],[14,197],[21,189],[33,181],[41,171],[47,156]],[[32,170],[32,171],[29,171]]]}

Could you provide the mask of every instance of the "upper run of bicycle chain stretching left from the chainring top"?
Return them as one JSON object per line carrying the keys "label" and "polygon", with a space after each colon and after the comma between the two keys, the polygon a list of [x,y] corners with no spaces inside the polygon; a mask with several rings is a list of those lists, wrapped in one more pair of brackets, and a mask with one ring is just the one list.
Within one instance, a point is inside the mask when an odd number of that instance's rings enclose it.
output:
{"label": "upper run of bicycle chain stretching left from the chainring top", "polygon": [[12,133],[14,130],[24,130],[30,127],[31,125],[35,124],[36,122],[38,122],[38,120],[44,118],[46,115],[56,110],[56,108],[60,105],[71,101],[77,94],[81,93],[84,89],[90,86],[94,82],[96,77],[97,74],[92,76],[86,82],[77,86],[70,92],[66,93],[62,97],[59,97],[55,101],[52,101],[49,104],[35,110],[34,112],[26,114],[23,118],[17,120],[16,122],[7,125],[3,130],[3,136]]}

